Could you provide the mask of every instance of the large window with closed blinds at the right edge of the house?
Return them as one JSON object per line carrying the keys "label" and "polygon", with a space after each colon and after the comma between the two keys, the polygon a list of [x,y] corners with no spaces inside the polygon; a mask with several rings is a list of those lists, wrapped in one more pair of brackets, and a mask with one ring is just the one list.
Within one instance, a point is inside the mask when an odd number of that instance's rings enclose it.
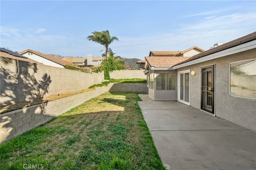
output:
{"label": "large window with closed blinds at the right edge of the house", "polygon": [[256,99],[256,59],[230,64],[230,96]]}

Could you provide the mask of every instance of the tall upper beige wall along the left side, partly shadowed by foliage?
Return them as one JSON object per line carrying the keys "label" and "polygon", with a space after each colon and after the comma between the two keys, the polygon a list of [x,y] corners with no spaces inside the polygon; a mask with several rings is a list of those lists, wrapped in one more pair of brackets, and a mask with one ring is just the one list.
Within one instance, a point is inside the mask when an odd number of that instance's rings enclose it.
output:
{"label": "tall upper beige wall along the left side, partly shadowed by foliage", "polygon": [[104,80],[84,73],[0,57],[1,104],[11,104],[86,89]]}

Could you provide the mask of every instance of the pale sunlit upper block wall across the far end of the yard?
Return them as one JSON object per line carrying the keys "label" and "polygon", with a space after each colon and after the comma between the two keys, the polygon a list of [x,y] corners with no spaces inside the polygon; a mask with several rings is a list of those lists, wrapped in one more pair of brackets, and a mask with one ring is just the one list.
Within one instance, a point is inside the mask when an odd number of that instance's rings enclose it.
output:
{"label": "pale sunlit upper block wall across the far end of the yard", "polygon": [[146,75],[143,73],[144,70],[116,70],[110,72],[111,79],[147,79]]}

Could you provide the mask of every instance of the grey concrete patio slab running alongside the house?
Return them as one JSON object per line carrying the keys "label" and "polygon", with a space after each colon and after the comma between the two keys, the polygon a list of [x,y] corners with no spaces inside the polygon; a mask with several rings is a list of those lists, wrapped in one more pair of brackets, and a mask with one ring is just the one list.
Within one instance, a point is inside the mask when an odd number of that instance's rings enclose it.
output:
{"label": "grey concrete patio slab running alongside the house", "polygon": [[139,105],[169,169],[256,169],[256,133],[177,101]]}

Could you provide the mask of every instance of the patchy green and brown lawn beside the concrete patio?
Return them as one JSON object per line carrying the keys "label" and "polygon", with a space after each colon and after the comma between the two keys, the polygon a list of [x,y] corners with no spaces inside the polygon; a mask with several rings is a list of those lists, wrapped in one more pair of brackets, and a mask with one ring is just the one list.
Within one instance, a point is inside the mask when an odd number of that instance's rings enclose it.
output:
{"label": "patchy green and brown lawn beside the concrete patio", "polygon": [[137,94],[110,93],[0,146],[1,169],[164,169]]}

